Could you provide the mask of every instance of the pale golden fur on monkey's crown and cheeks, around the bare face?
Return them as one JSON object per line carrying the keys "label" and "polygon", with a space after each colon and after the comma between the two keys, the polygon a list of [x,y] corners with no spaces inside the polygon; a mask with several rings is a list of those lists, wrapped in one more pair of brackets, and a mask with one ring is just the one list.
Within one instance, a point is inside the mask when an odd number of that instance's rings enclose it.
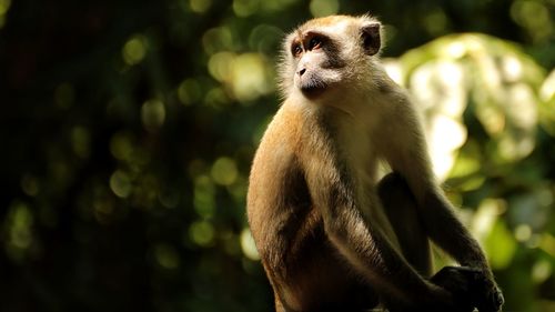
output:
{"label": "pale golden fur on monkey's crown and cheeks, around the bare face", "polygon": [[280,62],[278,66],[278,83],[283,99],[286,99],[294,91],[294,76],[296,63],[291,53],[291,44],[294,40],[300,40],[306,33],[319,32],[329,37],[337,47],[336,60],[342,60],[345,68],[341,70],[340,83],[353,85],[370,83],[373,72],[379,67],[379,58],[382,49],[375,54],[364,53],[362,48],[361,31],[364,27],[377,24],[380,28],[381,47],[384,46],[384,32],[380,21],[370,14],[359,17],[352,16],[329,16],[316,18],[304,22],[291,31],[284,39]]}

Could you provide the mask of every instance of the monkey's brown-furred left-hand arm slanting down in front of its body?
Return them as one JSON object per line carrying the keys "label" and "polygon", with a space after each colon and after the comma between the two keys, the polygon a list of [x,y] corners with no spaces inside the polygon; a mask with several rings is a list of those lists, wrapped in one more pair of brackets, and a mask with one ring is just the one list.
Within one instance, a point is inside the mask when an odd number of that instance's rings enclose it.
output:
{"label": "monkey's brown-furred left-hand arm slanting down in front of its body", "polygon": [[317,170],[306,175],[312,177],[307,179],[309,189],[330,240],[375,286],[392,311],[411,308],[456,311],[451,293],[422,278],[406,263],[379,224],[364,221],[359,203],[350,193],[352,189],[342,182],[337,171]]}

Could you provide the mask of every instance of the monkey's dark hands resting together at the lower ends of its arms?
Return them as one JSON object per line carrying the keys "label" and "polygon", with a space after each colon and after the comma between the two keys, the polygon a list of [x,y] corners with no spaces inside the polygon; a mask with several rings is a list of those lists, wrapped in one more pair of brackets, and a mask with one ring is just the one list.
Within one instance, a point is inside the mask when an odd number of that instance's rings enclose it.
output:
{"label": "monkey's dark hands resting together at the lower ends of its arms", "polygon": [[495,282],[482,270],[468,266],[445,266],[431,281],[450,291],[457,304],[477,308],[480,312],[497,312],[504,303]]}

